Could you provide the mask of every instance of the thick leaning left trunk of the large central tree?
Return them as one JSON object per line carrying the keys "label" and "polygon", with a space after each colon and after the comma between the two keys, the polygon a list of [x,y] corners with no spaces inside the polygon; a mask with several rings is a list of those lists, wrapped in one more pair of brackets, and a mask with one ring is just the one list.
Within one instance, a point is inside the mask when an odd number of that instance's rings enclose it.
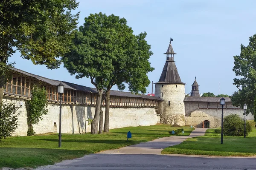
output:
{"label": "thick leaning left trunk of the large central tree", "polygon": [[96,102],[96,108],[95,108],[95,114],[93,117],[93,122],[91,123],[91,134],[97,134],[98,133],[98,124],[99,124],[99,112],[101,110],[101,101],[102,101],[102,89],[97,89],[98,96],[97,96],[97,102]]}

